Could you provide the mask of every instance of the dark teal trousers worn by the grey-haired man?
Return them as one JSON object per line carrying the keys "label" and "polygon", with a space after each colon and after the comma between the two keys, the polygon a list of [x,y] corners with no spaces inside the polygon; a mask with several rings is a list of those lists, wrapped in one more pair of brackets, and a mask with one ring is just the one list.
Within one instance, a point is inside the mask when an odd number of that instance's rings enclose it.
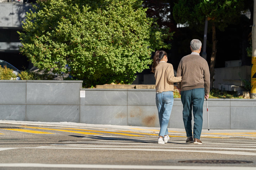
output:
{"label": "dark teal trousers worn by the grey-haired man", "polygon": [[[200,139],[203,124],[204,88],[181,91],[181,102],[183,104],[183,122],[187,137],[193,136]],[[192,109],[194,116],[194,127],[192,135]]]}

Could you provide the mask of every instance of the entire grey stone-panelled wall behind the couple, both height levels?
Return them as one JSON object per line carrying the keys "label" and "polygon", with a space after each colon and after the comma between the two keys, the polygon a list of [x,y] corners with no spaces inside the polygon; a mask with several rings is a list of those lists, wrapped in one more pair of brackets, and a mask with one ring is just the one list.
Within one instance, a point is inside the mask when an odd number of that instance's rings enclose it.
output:
{"label": "entire grey stone-panelled wall behind the couple, both height levels", "polygon": [[[154,89],[82,89],[82,81],[0,80],[0,120],[159,127]],[[256,129],[256,99],[209,99],[211,129]],[[184,128],[174,99],[170,128]],[[207,129],[206,102],[203,128]]]}

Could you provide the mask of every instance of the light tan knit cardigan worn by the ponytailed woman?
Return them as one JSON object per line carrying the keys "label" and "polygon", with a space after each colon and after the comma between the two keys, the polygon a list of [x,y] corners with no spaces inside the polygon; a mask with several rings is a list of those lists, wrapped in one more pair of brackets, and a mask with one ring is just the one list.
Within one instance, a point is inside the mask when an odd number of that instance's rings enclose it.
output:
{"label": "light tan knit cardigan worn by the ponytailed woman", "polygon": [[174,91],[173,83],[180,82],[180,77],[174,77],[173,65],[167,62],[159,63],[155,68],[156,92]]}

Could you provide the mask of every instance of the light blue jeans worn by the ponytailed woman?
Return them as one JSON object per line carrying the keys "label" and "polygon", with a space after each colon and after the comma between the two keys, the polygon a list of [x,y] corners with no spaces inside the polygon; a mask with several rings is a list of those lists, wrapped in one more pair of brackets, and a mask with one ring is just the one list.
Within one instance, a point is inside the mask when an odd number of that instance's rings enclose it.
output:
{"label": "light blue jeans worn by the ponytailed woman", "polygon": [[173,91],[163,91],[156,93],[156,107],[158,110],[158,117],[160,123],[159,136],[168,135],[168,124],[173,108]]}

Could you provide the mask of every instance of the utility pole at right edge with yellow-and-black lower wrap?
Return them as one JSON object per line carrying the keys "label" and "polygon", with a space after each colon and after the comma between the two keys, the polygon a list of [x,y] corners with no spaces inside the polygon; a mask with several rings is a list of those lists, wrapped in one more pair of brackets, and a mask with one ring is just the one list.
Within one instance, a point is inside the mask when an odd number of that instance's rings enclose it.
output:
{"label": "utility pole at right edge with yellow-and-black lower wrap", "polygon": [[254,0],[254,11],[253,11],[253,20],[252,20],[252,55],[251,55],[251,98],[256,98],[256,0]]}

